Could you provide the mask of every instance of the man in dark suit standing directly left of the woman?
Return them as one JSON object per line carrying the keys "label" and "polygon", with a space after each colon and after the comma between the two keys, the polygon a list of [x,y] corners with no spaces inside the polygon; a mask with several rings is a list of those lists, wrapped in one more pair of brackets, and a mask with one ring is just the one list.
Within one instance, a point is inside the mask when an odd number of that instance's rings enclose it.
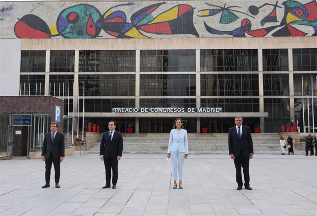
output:
{"label": "man in dark suit standing directly left of the woman", "polygon": [[121,133],[114,130],[115,125],[115,121],[109,121],[109,131],[103,133],[100,143],[100,159],[104,161],[106,169],[106,185],[103,188],[110,187],[111,169],[113,189],[118,181],[118,161],[122,156],[123,138]]}

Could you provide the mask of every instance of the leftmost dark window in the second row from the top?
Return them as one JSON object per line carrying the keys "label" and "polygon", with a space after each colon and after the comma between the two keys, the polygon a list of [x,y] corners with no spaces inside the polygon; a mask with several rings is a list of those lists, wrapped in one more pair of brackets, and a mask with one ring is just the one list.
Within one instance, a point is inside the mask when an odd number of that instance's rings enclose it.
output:
{"label": "leftmost dark window in the second row from the top", "polygon": [[20,75],[20,95],[44,95],[45,75]]}

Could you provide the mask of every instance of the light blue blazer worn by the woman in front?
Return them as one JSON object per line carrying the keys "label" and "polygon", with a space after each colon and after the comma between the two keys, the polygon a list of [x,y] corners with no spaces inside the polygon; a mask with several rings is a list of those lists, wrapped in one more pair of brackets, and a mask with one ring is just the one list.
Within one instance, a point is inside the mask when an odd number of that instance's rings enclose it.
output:
{"label": "light blue blazer worn by the woman in front", "polygon": [[187,131],[185,129],[180,130],[179,136],[177,129],[170,130],[167,153],[177,151],[177,148],[180,152],[188,154]]}

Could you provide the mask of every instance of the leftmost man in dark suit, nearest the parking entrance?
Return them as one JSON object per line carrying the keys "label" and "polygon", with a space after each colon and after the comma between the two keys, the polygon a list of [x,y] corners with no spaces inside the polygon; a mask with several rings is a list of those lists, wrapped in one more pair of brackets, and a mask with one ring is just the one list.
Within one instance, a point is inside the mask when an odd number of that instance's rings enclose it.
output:
{"label": "leftmost man in dark suit, nearest the parking entrance", "polygon": [[58,124],[51,123],[51,132],[44,137],[42,148],[42,160],[45,160],[45,182],[42,188],[50,187],[51,168],[54,164],[55,187],[59,188],[60,162],[65,156],[64,135],[57,132]]}

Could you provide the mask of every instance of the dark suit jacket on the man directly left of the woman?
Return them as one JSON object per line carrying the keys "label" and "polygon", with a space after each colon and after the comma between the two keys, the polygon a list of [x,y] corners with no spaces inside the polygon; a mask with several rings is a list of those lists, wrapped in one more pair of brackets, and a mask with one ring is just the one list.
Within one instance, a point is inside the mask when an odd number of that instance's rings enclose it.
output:
{"label": "dark suit jacket on the man directly left of the woman", "polygon": [[122,156],[123,151],[123,137],[120,132],[114,131],[112,140],[109,138],[109,131],[103,133],[100,143],[100,156],[104,155],[105,158],[116,158],[118,155]]}

